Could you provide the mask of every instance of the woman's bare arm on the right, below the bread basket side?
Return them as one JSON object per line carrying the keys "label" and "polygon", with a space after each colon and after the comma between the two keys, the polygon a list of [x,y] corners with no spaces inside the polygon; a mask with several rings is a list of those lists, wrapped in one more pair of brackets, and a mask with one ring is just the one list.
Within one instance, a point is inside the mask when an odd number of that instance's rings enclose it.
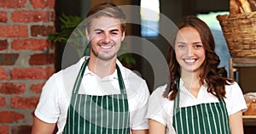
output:
{"label": "woman's bare arm on the right, below the bread basket side", "polygon": [[242,112],[238,111],[230,115],[231,134],[243,134]]}

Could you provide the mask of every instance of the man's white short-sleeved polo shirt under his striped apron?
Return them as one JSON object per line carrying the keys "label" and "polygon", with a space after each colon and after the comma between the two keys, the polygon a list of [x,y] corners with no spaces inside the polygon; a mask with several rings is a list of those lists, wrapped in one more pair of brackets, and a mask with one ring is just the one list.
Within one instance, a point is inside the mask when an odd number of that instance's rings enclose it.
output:
{"label": "man's white short-sleeved polo shirt under his striped apron", "polygon": [[[82,58],[77,64],[55,73],[46,81],[35,110],[38,119],[47,123],[57,122],[58,134],[63,131],[66,125],[71,92],[84,59]],[[118,60],[117,64],[122,73],[128,97],[130,127],[132,130],[148,129],[148,120],[145,118],[145,114],[148,109],[149,91],[146,81],[131,70],[126,69]],[[102,96],[119,93],[117,70],[112,75],[100,78],[86,67],[79,94]]]}

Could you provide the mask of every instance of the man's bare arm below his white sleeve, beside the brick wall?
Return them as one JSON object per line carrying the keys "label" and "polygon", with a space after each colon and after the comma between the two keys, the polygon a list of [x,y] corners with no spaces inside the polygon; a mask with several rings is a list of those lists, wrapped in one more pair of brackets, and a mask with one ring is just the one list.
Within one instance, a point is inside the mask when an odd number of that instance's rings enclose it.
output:
{"label": "man's bare arm below his white sleeve, beside the brick wall", "polygon": [[32,134],[52,134],[55,130],[55,123],[46,123],[34,116]]}

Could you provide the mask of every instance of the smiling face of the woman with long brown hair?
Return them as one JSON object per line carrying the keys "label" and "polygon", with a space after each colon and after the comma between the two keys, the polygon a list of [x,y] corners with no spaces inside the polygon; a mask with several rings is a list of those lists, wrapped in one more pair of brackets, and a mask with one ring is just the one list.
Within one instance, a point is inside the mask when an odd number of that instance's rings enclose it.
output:
{"label": "smiling face of the woman with long brown hair", "polygon": [[206,51],[199,32],[193,27],[183,27],[177,33],[175,52],[182,72],[198,72],[206,59]]}

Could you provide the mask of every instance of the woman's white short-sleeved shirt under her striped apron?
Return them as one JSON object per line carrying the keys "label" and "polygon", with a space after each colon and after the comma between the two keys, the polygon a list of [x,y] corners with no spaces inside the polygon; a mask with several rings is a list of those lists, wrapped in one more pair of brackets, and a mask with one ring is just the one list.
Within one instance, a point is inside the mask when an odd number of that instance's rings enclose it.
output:
{"label": "woman's white short-sleeved shirt under her striped apron", "polygon": [[[166,90],[167,85],[158,87],[151,94],[148,101],[148,113],[146,118],[156,120],[166,126],[166,134],[175,134],[175,130],[172,126],[173,116],[173,103],[167,98],[163,97],[163,93]],[[235,82],[230,86],[225,86],[226,95],[224,102],[226,103],[226,109],[228,114],[235,114],[238,111],[245,111],[247,105],[241,88]],[[197,98],[195,98],[185,87],[183,87],[183,81],[180,79],[180,107],[189,107],[200,103],[216,103],[219,102],[218,98],[213,96],[210,92],[207,92],[206,86],[201,86],[198,92]]]}

